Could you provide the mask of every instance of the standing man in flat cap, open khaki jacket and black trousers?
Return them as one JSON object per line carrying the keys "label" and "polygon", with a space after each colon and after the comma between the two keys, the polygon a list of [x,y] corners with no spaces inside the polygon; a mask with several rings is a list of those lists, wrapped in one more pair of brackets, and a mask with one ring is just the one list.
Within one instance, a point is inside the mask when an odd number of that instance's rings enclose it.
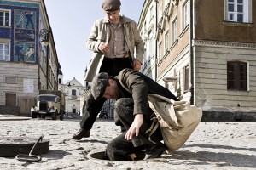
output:
{"label": "standing man in flat cap, open khaki jacket and black trousers", "polygon": [[[85,80],[88,82],[91,82],[98,72],[107,72],[110,76],[116,76],[124,68],[135,71],[141,69],[144,54],[143,40],[137,30],[136,22],[120,14],[120,6],[119,0],[102,2],[106,17],[96,20],[86,42],[87,48],[94,52],[85,75]],[[105,101],[106,98],[95,100],[89,94],[84,101],[81,128],[72,139],[90,137],[90,129]]]}

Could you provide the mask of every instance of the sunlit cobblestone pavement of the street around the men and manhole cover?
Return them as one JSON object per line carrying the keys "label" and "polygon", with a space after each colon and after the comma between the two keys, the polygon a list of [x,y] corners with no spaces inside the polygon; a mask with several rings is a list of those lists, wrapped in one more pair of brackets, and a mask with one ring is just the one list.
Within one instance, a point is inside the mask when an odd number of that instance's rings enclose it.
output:
{"label": "sunlit cobblestone pavement of the street around the men and manhole cover", "polygon": [[[119,135],[112,121],[97,120],[90,138],[70,139],[79,129],[78,119],[4,120],[1,137],[49,139],[49,152],[42,161],[22,162],[0,157],[0,169],[255,169],[256,122],[201,122],[183,148],[172,155],[150,161],[104,161],[91,153],[103,151],[108,141]],[[1,148],[0,148],[1,150]]]}

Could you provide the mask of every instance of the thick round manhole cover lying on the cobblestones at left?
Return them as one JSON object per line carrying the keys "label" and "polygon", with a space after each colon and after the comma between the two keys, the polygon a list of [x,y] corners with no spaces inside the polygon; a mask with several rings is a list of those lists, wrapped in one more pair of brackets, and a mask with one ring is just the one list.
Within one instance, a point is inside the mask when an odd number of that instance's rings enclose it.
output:
{"label": "thick round manhole cover lying on the cobblestones at left", "polygon": [[[0,137],[0,157],[17,156],[18,154],[29,154],[37,138],[28,137]],[[33,154],[40,155],[49,151],[49,140],[40,141]]]}

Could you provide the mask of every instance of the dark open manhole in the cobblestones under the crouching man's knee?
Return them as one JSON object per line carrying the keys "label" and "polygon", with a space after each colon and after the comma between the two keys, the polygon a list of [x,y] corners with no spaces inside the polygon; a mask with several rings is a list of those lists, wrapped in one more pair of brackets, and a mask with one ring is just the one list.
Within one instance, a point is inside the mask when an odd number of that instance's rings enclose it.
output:
{"label": "dark open manhole in the cobblestones under the crouching man's knee", "polygon": [[[131,161],[143,160],[145,157],[145,152],[143,151],[137,152],[137,153],[131,154],[130,157],[131,157]],[[90,153],[90,158],[96,159],[96,160],[109,160],[108,158],[106,158],[104,151],[92,152]]]}

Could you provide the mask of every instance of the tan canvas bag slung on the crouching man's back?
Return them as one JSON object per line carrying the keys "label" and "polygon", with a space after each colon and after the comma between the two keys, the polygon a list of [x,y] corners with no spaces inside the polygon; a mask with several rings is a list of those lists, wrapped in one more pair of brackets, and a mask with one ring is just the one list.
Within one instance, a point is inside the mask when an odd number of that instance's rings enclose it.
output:
{"label": "tan canvas bag slung on the crouching man's back", "polygon": [[189,102],[172,101],[155,94],[148,94],[148,102],[157,119],[148,132],[152,134],[160,126],[169,153],[181,148],[201,122],[201,109]]}

